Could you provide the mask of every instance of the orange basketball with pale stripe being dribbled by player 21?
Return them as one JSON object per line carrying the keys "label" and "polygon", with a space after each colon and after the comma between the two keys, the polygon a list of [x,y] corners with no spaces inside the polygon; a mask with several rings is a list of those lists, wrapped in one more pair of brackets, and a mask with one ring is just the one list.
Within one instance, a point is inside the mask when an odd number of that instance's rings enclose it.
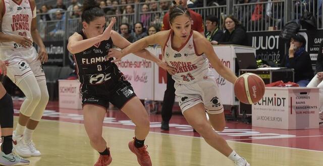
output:
{"label": "orange basketball with pale stripe being dribbled by player 21", "polygon": [[264,82],[258,75],[247,72],[236,80],[234,94],[244,104],[256,103],[263,97]]}

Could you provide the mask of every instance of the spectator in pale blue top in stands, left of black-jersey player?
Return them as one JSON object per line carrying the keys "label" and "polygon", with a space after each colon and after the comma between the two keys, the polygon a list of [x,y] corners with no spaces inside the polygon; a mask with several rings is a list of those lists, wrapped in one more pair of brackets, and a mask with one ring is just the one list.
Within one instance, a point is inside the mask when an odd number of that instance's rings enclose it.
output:
{"label": "spectator in pale blue top in stands, left of black-jersey player", "polygon": [[65,34],[65,15],[63,15],[62,11],[57,11],[55,13],[56,20],[60,20],[56,23],[55,29],[49,32],[51,37],[61,38]]}

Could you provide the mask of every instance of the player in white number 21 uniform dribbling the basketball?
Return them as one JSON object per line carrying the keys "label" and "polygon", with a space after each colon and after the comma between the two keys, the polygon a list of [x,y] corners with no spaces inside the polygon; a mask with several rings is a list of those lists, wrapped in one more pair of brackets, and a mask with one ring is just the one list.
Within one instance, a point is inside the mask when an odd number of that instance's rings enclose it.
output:
{"label": "player in white number 21 uniform dribbling the basketball", "polygon": [[[187,9],[181,6],[171,8],[170,24],[171,30],[140,39],[121,51],[112,50],[108,57],[116,57],[117,61],[131,52],[159,44],[164,48],[166,62],[176,68],[176,73],[171,73],[175,80],[175,94],[188,123],[209,145],[229,157],[236,165],[250,165],[212,129],[213,127],[217,131],[223,131],[226,122],[216,78],[208,68],[208,60],[214,69],[232,84],[237,76],[221,63],[209,41],[197,31],[191,30],[191,19]],[[206,119],[205,111],[210,123]]]}

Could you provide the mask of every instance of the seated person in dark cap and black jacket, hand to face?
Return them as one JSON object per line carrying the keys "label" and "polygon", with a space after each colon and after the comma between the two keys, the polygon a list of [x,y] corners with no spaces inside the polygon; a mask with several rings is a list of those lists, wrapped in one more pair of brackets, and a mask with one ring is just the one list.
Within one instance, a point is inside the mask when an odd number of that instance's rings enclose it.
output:
{"label": "seated person in dark cap and black jacket, hand to face", "polygon": [[294,69],[294,82],[300,87],[306,87],[314,76],[311,58],[305,51],[306,40],[304,36],[296,34],[292,37],[287,54],[281,62],[281,66]]}

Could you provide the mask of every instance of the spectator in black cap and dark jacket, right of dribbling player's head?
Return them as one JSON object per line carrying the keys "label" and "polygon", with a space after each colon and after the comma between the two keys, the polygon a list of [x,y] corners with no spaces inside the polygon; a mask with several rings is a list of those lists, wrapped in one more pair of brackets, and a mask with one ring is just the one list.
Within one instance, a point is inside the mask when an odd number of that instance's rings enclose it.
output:
{"label": "spectator in black cap and dark jacket, right of dribbling player's head", "polygon": [[205,37],[208,41],[213,42],[220,41],[223,35],[223,31],[219,29],[219,20],[216,16],[210,15],[205,18],[206,34]]}

